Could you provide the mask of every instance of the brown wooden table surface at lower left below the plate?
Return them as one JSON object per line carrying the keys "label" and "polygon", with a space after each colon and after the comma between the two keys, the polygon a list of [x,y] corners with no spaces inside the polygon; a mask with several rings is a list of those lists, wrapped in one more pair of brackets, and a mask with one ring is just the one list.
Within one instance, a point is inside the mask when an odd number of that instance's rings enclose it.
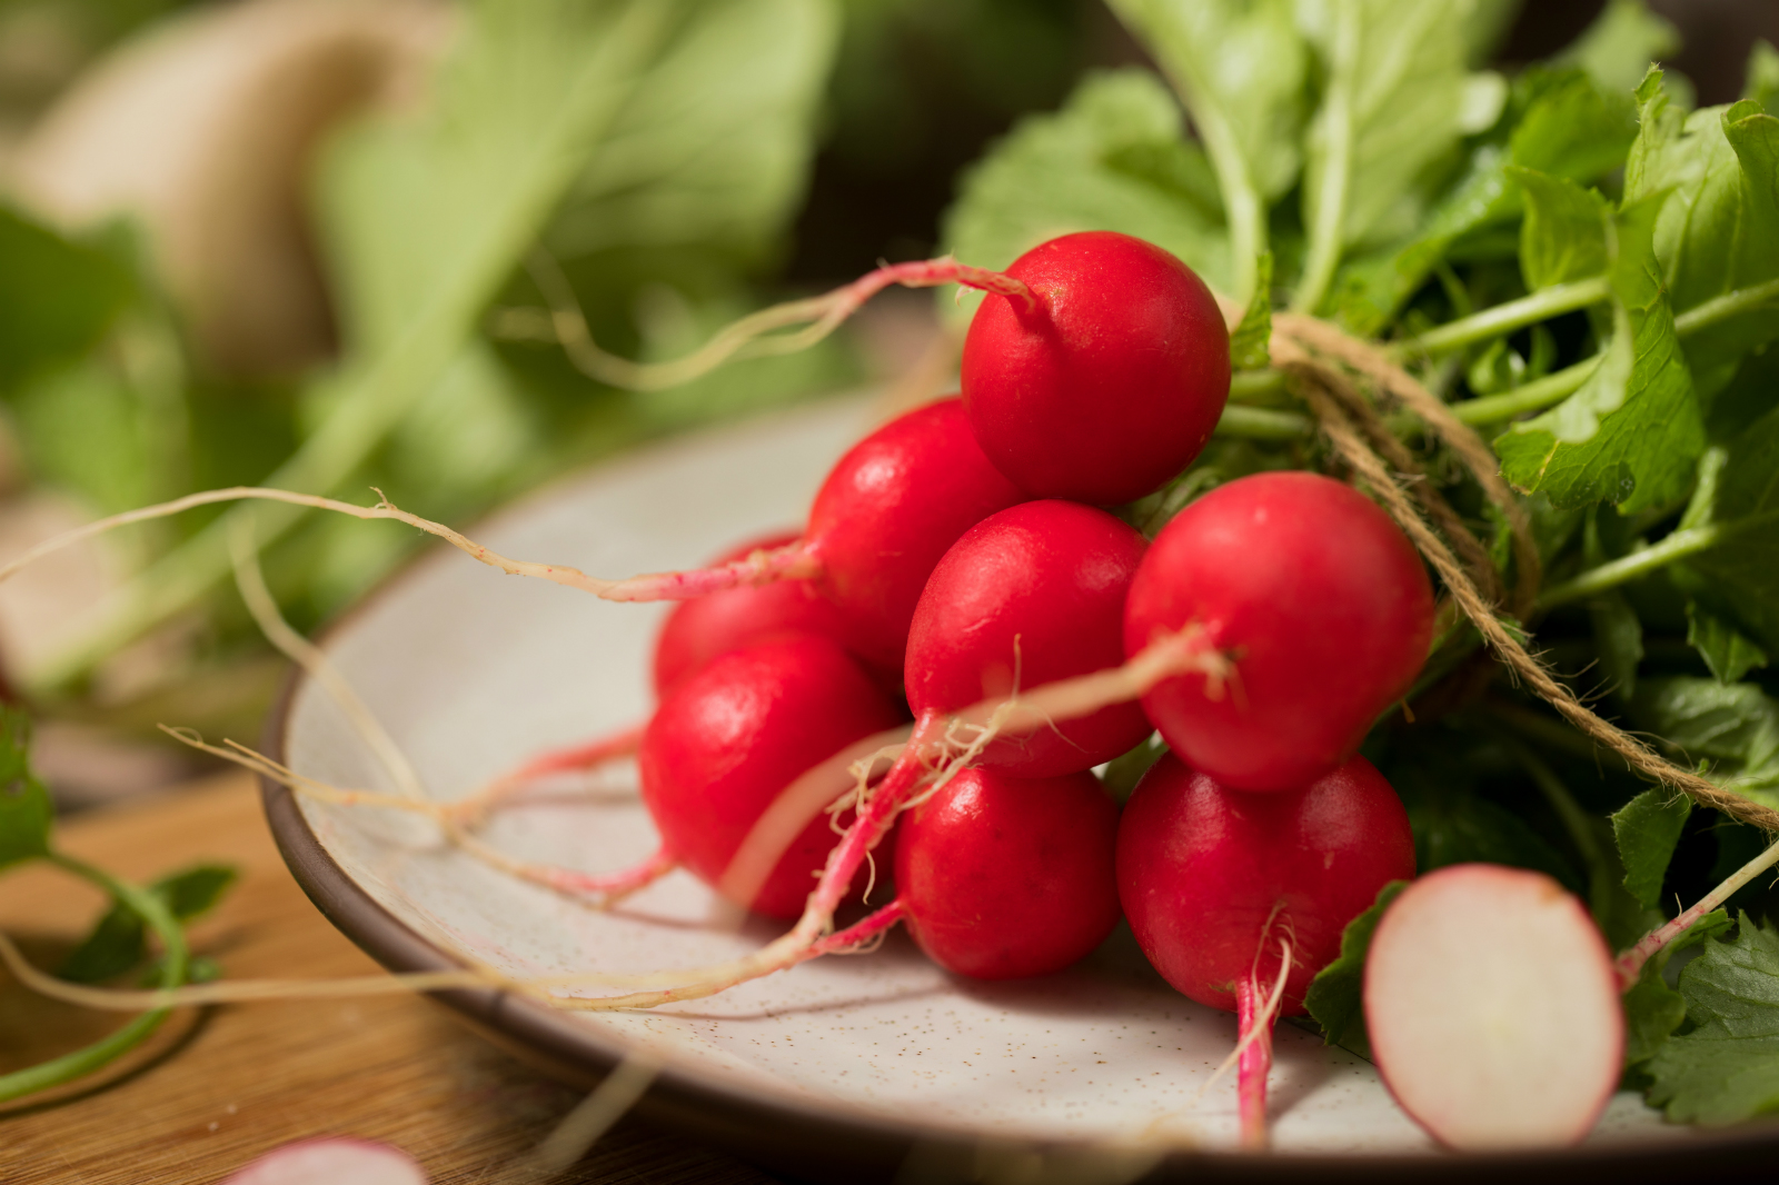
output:
{"label": "brown wooden table surface at lower left below the plate", "polygon": [[[229,977],[375,970],[290,879],[246,774],[80,815],[57,842],[139,881],[197,859],[237,865],[240,881],[192,927],[194,950]],[[0,927],[39,966],[55,966],[101,906],[96,891],[46,867],[0,877]],[[117,1023],[117,1014],[34,996],[0,971],[0,1071],[93,1041]],[[523,1157],[578,1100],[423,998],[185,1011],[94,1080],[0,1107],[0,1180],[203,1185],[288,1141],[359,1135],[406,1149],[434,1185],[516,1181]],[[772,1181],[630,1119],[555,1180]]]}

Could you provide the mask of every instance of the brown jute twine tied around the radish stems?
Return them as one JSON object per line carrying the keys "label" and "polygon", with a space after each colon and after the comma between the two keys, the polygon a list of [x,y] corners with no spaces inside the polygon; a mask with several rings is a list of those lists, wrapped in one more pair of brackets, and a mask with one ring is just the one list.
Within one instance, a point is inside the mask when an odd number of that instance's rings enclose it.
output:
{"label": "brown jute twine tied around the radish stems", "polygon": [[[1384,509],[1439,573],[1448,594],[1477,626],[1482,641],[1514,674],[1585,737],[1617,753],[1644,778],[1738,822],[1779,833],[1779,811],[1674,765],[1640,738],[1601,719],[1525,648],[1496,614],[1500,580],[1487,552],[1434,482],[1427,480],[1372,400],[1357,390],[1354,375],[1366,381],[1381,397],[1393,399],[1420,416],[1434,436],[1462,459],[1489,502],[1501,511],[1514,537],[1517,578],[1512,605],[1516,616],[1525,617],[1537,598],[1541,580],[1532,523],[1525,505],[1501,479],[1494,452],[1469,425],[1457,420],[1439,397],[1388,354],[1325,320],[1277,315],[1270,351],[1274,365],[1286,372],[1292,390],[1315,413],[1340,459],[1375,491]],[[1464,562],[1457,553],[1462,553]]]}

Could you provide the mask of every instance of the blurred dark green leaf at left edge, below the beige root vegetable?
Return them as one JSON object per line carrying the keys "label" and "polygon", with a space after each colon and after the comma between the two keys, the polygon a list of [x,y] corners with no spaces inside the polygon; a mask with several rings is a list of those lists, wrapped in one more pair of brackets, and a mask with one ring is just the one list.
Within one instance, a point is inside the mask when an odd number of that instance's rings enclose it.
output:
{"label": "blurred dark green leaf at left edge, below the beige root vegetable", "polygon": [[0,391],[85,354],[133,295],[112,256],[0,205]]}

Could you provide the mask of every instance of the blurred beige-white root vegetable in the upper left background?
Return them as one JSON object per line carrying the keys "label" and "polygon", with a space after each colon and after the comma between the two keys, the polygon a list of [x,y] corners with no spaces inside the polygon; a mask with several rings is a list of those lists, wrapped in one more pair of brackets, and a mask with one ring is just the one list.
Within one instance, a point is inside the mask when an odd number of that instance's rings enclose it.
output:
{"label": "blurred beige-white root vegetable in the upper left background", "polygon": [[448,27],[432,0],[206,5],[87,71],[9,185],[68,228],[135,215],[208,367],[294,372],[333,347],[311,151],[352,110],[415,93]]}

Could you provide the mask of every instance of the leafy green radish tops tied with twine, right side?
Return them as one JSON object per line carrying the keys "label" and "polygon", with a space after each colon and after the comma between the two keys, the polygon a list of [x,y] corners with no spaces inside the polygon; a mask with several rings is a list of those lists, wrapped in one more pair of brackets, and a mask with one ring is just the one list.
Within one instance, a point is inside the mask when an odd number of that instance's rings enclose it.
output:
{"label": "leafy green radish tops tied with twine, right side", "polygon": [[[1544,584],[1519,625],[1546,660],[1601,715],[1779,806],[1779,53],[1754,48],[1742,101],[1692,110],[1651,66],[1672,30],[1638,0],[1510,78],[1477,68],[1512,11],[1496,0],[1112,7],[1162,73],[1091,77],[1021,123],[964,178],[946,242],[1005,267],[1119,230],[1247,302],[1217,439],[1135,520],[1258,470],[1338,473],[1265,351],[1274,306],[1334,320],[1493,438],[1533,518]],[[1512,587],[1500,511],[1425,425],[1391,427]],[[1466,625],[1407,706],[1366,753],[1420,867],[1548,872],[1617,948],[1767,843],[1596,751]],[[1779,1108],[1775,906],[1756,881],[1626,996],[1626,1080],[1672,1119]],[[1361,1050],[1375,918],[1311,996]]]}

